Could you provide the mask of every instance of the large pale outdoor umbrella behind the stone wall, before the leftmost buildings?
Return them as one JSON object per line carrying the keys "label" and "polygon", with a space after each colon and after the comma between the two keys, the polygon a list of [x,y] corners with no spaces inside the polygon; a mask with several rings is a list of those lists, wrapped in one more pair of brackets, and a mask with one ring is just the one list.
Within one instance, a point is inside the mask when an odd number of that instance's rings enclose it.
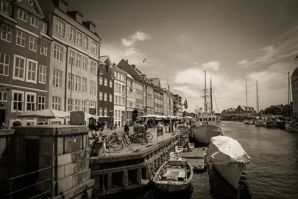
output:
{"label": "large pale outdoor umbrella behind the stone wall, before the leftmost buildings", "polygon": [[19,118],[25,118],[25,117],[38,117],[38,118],[46,118],[46,119],[63,119],[63,118],[68,118],[70,113],[63,112],[61,110],[55,110],[52,108],[47,108],[43,110],[36,110],[32,112],[26,112],[26,113],[21,113],[17,115]]}

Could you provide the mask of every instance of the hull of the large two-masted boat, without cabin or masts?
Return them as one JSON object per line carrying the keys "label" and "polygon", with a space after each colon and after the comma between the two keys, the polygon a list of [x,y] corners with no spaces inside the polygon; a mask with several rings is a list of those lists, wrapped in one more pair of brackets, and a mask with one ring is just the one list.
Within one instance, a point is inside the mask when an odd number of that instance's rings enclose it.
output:
{"label": "hull of the large two-masted boat, without cabin or masts", "polygon": [[196,142],[208,145],[210,138],[223,135],[223,133],[221,127],[205,123],[193,129],[193,135]]}

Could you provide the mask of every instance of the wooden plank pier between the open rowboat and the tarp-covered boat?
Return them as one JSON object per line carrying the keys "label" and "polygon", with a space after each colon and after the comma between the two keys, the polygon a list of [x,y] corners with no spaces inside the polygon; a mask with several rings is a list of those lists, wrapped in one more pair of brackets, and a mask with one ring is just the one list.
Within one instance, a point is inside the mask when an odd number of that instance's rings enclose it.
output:
{"label": "wooden plank pier between the open rowboat and the tarp-covered boat", "polygon": [[204,170],[206,147],[193,148],[189,152],[181,152],[181,157],[197,170]]}

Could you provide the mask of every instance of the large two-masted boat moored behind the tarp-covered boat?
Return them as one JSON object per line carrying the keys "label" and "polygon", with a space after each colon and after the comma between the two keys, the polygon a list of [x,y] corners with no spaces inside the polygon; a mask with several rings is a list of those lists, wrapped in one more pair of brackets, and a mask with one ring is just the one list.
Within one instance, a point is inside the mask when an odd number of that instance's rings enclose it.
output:
{"label": "large two-masted boat moored behind the tarp-covered boat", "polygon": [[[210,87],[212,88],[211,79],[210,79]],[[208,111],[206,71],[205,71],[205,89],[203,91],[204,91],[204,97],[203,97],[204,112],[201,112],[197,117],[195,117],[196,127],[192,131],[196,142],[204,145],[208,145],[212,137],[223,135],[223,133],[222,133],[222,128],[220,127],[219,118],[215,115],[212,105],[211,105],[210,111]],[[212,104],[212,92],[211,92],[211,104]]]}

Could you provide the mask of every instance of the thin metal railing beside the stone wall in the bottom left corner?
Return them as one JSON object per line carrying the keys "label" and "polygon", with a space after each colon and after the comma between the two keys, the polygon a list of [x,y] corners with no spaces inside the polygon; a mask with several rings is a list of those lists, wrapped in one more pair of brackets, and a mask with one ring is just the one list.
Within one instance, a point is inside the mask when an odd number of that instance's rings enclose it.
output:
{"label": "thin metal railing beside the stone wall in the bottom left corner", "polygon": [[[47,182],[47,181],[50,181],[50,180],[51,180],[51,189],[50,189],[50,190],[45,191],[45,192],[43,192],[43,193],[41,193],[41,194],[39,194],[39,195],[37,195],[37,196],[34,196],[34,197],[30,198],[30,199],[35,199],[35,198],[37,198],[37,197],[39,197],[39,196],[41,196],[41,195],[44,195],[44,194],[46,194],[46,193],[48,193],[48,192],[51,192],[51,198],[52,198],[52,197],[53,197],[53,192],[52,192],[52,191],[54,190],[54,188],[53,188],[53,179],[54,179],[54,178],[53,178],[53,168],[54,168],[54,167],[51,166],[51,167],[48,167],[48,168],[45,168],[45,169],[40,169],[40,170],[38,170],[38,171],[34,171],[34,172],[31,172],[31,173],[23,174],[23,175],[14,177],[14,178],[9,178],[9,179],[5,179],[5,180],[1,180],[1,179],[0,179],[0,182],[1,182],[1,181],[3,181],[3,182],[7,182],[7,181],[9,181],[9,184],[10,184],[9,194],[3,194],[2,196],[9,196],[9,199],[11,199],[12,195],[15,194],[15,193],[17,193],[17,192],[19,192],[19,191],[25,190],[25,189],[27,189],[27,188],[29,188],[29,187],[33,187],[33,186],[36,186],[36,185],[38,185],[38,184],[41,184],[41,183],[44,183],[44,182]],[[18,189],[18,190],[16,190],[16,191],[12,191],[12,180],[14,180],[14,179],[18,179],[18,178],[21,178],[21,177],[24,177],[24,176],[27,176],[27,175],[30,175],[30,174],[34,174],[34,173],[37,173],[37,172],[45,171],[45,170],[48,170],[48,169],[51,169],[51,178],[49,178],[49,179],[47,179],[47,180],[43,180],[43,181],[38,182],[38,183],[35,183],[35,184],[33,184],[33,185],[29,185],[29,186],[24,187],[24,188]]]}

